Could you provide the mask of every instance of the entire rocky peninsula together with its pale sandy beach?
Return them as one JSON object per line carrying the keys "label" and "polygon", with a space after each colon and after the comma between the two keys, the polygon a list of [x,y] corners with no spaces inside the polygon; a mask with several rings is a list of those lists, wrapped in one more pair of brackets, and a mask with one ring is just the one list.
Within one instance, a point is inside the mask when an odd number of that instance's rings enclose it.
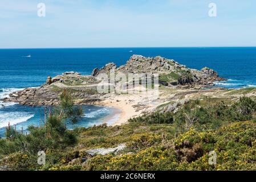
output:
{"label": "entire rocky peninsula together with its pale sandy beach", "polygon": [[[112,70],[125,75],[128,73],[159,74],[160,97],[157,100],[150,100],[145,94],[98,93],[97,84],[101,80],[97,76],[101,73],[109,74]],[[211,87],[214,86],[214,81],[222,80],[225,78],[219,77],[218,73],[210,68],[205,67],[198,71],[161,56],[133,55],[125,65],[117,67],[115,63],[108,63],[103,68],[95,68],[91,75],[65,72],[53,78],[49,76],[46,84],[38,88],[27,88],[11,93],[3,101],[28,106],[53,106],[59,104],[59,95],[63,89],[66,89],[71,93],[76,104],[114,106],[123,110],[118,124],[126,122],[131,117],[154,111],[165,102],[176,100],[177,104],[168,106],[169,110],[176,110],[178,105],[188,100],[181,101],[181,97],[221,90]]]}

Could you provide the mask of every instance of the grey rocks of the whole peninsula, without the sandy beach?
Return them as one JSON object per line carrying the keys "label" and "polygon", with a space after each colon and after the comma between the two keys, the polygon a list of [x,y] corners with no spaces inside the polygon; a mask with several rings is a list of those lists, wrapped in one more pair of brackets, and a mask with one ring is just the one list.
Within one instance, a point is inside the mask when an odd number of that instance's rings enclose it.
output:
{"label": "grey rocks of the whole peninsula, without the sandy beach", "polygon": [[198,71],[160,56],[133,55],[127,64],[117,68],[116,64],[109,63],[101,69],[95,68],[91,76],[76,72],[65,72],[53,78],[49,76],[46,84],[38,88],[27,88],[11,93],[2,101],[17,102],[28,106],[58,105],[60,93],[63,89],[67,89],[76,104],[99,104],[103,100],[108,100],[112,94],[97,93],[97,84],[100,82],[97,76],[101,73],[109,74],[112,70],[125,75],[128,73],[158,73],[160,84],[170,89],[200,89],[213,86],[214,81],[225,80],[210,68],[205,67]]}

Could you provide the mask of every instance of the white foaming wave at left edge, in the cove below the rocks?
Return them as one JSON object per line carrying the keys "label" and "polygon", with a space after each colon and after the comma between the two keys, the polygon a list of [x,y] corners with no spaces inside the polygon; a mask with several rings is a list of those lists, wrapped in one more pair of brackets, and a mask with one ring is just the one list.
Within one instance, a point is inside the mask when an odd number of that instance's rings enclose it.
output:
{"label": "white foaming wave at left edge, in the cove below the rocks", "polygon": [[6,127],[9,125],[16,125],[18,123],[22,123],[27,121],[28,119],[34,117],[34,114],[27,112],[9,112],[9,113],[0,113],[0,128]]}

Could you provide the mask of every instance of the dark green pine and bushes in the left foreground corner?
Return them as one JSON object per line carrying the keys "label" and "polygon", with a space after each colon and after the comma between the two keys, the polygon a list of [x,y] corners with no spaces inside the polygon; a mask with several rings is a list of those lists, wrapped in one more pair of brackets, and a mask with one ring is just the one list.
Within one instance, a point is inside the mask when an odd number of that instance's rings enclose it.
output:
{"label": "dark green pine and bushes in the left foreground corner", "polygon": [[82,107],[74,106],[66,90],[60,101],[60,106],[50,109],[45,125],[30,126],[29,134],[23,134],[10,125],[6,128],[6,139],[0,139],[0,159],[8,156],[3,163],[15,170],[36,169],[40,167],[36,159],[39,151],[62,151],[76,144],[78,133],[67,130],[66,121],[78,121],[83,114]]}

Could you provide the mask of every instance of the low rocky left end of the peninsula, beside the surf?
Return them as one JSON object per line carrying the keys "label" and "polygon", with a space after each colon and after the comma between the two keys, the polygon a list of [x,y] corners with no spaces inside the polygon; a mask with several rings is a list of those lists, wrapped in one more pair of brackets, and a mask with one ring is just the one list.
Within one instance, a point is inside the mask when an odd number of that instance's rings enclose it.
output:
{"label": "low rocky left end of the peninsula, beside the surf", "polygon": [[94,104],[99,100],[96,85],[99,81],[92,76],[82,76],[78,73],[62,74],[47,78],[46,84],[38,88],[27,88],[9,94],[4,102],[16,102],[29,106],[53,106],[59,104],[59,96],[63,89],[70,91],[72,98],[79,100],[76,104]]}

